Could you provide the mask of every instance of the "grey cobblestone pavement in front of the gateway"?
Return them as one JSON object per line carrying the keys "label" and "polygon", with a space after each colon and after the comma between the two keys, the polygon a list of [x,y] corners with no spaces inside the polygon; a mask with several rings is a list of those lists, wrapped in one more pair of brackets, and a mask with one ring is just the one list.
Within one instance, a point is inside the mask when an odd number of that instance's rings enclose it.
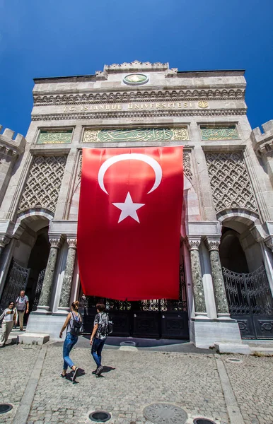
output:
{"label": "grey cobblestone pavement in front of the gateway", "polygon": [[[73,384],[59,377],[62,347],[43,348],[47,353],[28,424],[91,423],[87,413],[100,409],[111,413],[109,424],[151,424],[144,418],[143,408],[154,402],[182,407],[188,413],[189,424],[197,416],[213,419],[217,424],[230,423],[214,355],[105,349],[105,372],[97,378],[92,375],[95,363],[90,349],[74,348],[71,358],[85,370],[85,375],[77,377],[77,384]],[[28,370],[32,370],[39,351],[37,346],[28,350],[23,346],[0,349],[4,377],[0,399],[15,406],[6,416],[0,416],[0,423],[13,423]],[[220,358],[245,424],[273,424],[273,358],[237,357],[243,363],[228,363],[230,355]]]}

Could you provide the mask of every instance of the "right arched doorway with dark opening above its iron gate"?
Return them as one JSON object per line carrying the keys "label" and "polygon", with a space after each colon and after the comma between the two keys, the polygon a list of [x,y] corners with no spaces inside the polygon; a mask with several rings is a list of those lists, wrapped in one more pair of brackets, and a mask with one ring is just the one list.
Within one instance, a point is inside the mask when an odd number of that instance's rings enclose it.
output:
{"label": "right arched doorway with dark opening above its iron gate", "polygon": [[242,338],[273,338],[273,300],[262,249],[247,223],[223,220],[219,254],[231,318],[238,321]]}

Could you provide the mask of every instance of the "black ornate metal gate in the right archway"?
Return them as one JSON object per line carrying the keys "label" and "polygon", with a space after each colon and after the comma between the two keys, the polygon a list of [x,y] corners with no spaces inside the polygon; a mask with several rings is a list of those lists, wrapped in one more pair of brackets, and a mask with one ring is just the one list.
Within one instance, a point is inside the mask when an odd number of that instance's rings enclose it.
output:
{"label": "black ornate metal gate in the right archway", "polygon": [[223,268],[223,279],[229,312],[242,338],[273,338],[273,299],[265,267],[251,273]]}

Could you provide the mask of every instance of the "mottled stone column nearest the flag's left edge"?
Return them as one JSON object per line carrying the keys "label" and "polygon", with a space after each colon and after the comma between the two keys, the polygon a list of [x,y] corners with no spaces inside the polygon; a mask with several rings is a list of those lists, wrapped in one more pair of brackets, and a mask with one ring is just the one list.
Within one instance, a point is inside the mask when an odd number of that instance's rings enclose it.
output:
{"label": "mottled stone column nearest the flag's left edge", "polygon": [[77,241],[76,239],[68,239],[67,244],[69,245],[69,249],[67,252],[66,266],[64,270],[64,281],[62,283],[61,298],[59,300],[58,308],[58,310],[65,312],[67,312],[67,310],[69,309],[71,285],[74,276]]}

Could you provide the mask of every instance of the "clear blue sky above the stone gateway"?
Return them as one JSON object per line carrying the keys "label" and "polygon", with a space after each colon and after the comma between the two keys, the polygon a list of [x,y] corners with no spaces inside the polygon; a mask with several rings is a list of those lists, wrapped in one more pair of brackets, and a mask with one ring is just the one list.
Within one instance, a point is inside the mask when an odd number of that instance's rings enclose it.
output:
{"label": "clear blue sky above the stone gateway", "polygon": [[104,64],[246,69],[252,128],[273,119],[272,0],[0,0],[0,124],[25,135],[33,78]]}

